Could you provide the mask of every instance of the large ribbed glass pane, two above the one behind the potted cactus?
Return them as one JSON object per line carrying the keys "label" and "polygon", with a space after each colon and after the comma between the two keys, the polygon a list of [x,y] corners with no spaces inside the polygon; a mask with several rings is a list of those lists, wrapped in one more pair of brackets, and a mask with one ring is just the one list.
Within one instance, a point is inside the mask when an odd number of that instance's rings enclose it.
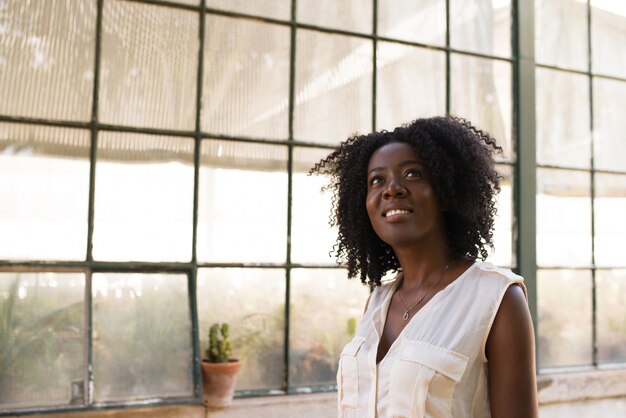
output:
{"label": "large ribbed glass pane, two above the one behind the potted cactus", "polygon": [[286,26],[207,16],[202,130],[287,138],[290,36]]}

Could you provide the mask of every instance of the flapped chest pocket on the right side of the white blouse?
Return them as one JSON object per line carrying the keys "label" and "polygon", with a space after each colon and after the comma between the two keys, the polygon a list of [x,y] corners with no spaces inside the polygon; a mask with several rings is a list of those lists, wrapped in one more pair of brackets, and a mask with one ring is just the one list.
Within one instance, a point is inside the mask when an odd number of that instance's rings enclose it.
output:
{"label": "flapped chest pocket on the right side of the white blouse", "polygon": [[428,344],[405,340],[391,370],[389,395],[393,417],[449,418],[452,395],[468,358]]}

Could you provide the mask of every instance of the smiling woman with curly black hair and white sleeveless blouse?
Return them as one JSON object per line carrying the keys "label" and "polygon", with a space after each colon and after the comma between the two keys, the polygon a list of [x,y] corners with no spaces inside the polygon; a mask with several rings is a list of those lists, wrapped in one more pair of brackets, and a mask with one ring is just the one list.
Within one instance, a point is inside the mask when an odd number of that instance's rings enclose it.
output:
{"label": "smiling woman with curly black hair and white sleeveless blouse", "polygon": [[481,261],[496,150],[435,117],[353,137],[312,170],[331,177],[338,259],[374,288],[341,354],[339,416],[537,417],[523,280]]}

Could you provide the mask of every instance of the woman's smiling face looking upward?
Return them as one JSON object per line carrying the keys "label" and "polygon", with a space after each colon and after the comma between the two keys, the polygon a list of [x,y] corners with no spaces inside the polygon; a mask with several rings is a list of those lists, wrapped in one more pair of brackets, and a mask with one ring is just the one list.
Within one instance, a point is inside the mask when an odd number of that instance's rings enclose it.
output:
{"label": "woman's smiling face looking upward", "polygon": [[445,242],[430,173],[409,144],[389,143],[372,154],[365,206],[376,234],[394,249]]}

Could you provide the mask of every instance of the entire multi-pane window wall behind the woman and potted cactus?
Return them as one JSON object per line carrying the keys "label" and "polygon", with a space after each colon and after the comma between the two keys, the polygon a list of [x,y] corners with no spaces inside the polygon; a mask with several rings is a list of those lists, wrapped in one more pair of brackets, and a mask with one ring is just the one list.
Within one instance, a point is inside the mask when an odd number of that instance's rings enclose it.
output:
{"label": "entire multi-pane window wall behind the woman and potted cactus", "polygon": [[[553,40],[533,76],[541,365],[626,361],[624,13],[535,2]],[[535,196],[516,186],[514,16],[509,0],[0,0],[0,414],[197,402],[213,322],[231,325],[239,396],[333,390],[368,289],[329,255],[330,196],[307,173],[354,133],[446,112],[491,132],[490,260],[519,269]]]}

